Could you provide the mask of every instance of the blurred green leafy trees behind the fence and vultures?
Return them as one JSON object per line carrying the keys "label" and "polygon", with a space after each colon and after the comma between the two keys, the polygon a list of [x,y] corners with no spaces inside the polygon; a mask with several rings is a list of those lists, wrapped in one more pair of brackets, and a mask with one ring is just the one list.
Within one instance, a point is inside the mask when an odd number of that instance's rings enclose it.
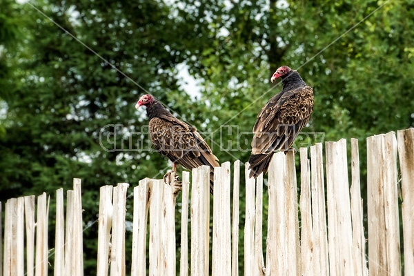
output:
{"label": "blurred green leafy trees behind the fence and vultures", "polygon": [[[414,126],[411,1],[0,3],[0,201],[54,195],[83,179],[86,256],[96,256],[99,187],[135,186],[168,170],[148,150],[144,109],[134,108],[146,92],[204,132],[221,162],[247,161],[249,132],[281,90],[269,79],[282,65],[313,86],[304,131],[324,132],[324,141],[358,138],[363,174],[366,137]],[[101,137],[111,146],[110,132],[143,130],[132,141],[146,150],[101,147]],[[128,139],[115,142],[130,148]],[[94,274],[95,259],[85,267]]]}

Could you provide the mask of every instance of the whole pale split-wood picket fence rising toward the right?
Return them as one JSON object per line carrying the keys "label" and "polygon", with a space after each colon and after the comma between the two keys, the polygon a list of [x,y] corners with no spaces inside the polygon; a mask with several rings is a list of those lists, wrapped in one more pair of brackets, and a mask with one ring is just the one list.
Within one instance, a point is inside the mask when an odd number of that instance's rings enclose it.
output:
{"label": "whole pale split-wood picket fence rising toward the right", "polygon": [[[132,256],[125,254],[128,184],[101,187],[97,275],[394,276],[402,275],[402,260],[404,275],[413,275],[414,129],[400,130],[397,137],[394,132],[375,135],[369,137],[366,144],[368,237],[363,227],[357,140],[351,141],[349,174],[346,140],[341,139],[326,142],[325,159],[322,144],[310,148],[310,158],[308,148],[300,149],[299,201],[293,153],[275,154],[268,172],[267,217],[263,214],[263,199],[267,195],[263,193],[262,176],[246,177],[243,183],[246,198],[239,198],[239,161],[233,164],[233,173],[228,162],[215,168],[215,190],[211,198],[208,167],[193,170],[191,181],[189,173],[183,172],[179,250],[171,186],[162,180],[143,179],[133,188]],[[247,167],[246,164],[244,168]],[[247,170],[245,173],[248,175]],[[400,255],[399,178],[403,257]],[[49,199],[44,193],[37,197],[36,222],[34,196],[6,202],[2,257],[0,250],[3,275],[47,275]],[[68,191],[66,220],[62,189],[57,190],[54,200],[57,204],[55,263],[50,265],[54,275],[83,275],[80,179],[75,179],[73,190]],[[213,210],[210,210],[210,200],[213,200]],[[239,210],[239,200],[246,202],[246,210]],[[239,226],[242,213],[245,224]],[[210,215],[213,215],[212,229]],[[262,229],[264,219],[268,221],[268,229]],[[239,228],[242,227],[244,244],[239,244]],[[264,233],[266,250],[262,247]],[[244,259],[238,259],[240,250],[244,250]],[[177,252],[180,253],[179,266]],[[127,260],[131,271],[126,271]],[[239,271],[239,262],[244,262],[244,271]]]}

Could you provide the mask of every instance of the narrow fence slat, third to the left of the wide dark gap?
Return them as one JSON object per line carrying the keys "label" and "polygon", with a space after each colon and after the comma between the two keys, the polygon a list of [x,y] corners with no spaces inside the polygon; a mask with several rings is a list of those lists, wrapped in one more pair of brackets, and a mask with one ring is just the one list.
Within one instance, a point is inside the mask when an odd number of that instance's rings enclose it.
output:
{"label": "narrow fence slat, third to the left of the wide dark gap", "polygon": [[63,204],[63,188],[56,191],[56,227],[55,227],[55,276],[65,273],[65,215]]}

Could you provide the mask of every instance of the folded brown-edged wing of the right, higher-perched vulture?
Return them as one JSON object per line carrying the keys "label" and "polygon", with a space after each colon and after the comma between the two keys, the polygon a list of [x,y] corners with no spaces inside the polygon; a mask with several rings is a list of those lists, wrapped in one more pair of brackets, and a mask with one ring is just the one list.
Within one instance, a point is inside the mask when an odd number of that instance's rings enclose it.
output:
{"label": "folded brown-edged wing of the right, higher-perched vulture", "polygon": [[287,150],[313,111],[313,90],[309,86],[276,95],[257,116],[253,127],[252,154]]}

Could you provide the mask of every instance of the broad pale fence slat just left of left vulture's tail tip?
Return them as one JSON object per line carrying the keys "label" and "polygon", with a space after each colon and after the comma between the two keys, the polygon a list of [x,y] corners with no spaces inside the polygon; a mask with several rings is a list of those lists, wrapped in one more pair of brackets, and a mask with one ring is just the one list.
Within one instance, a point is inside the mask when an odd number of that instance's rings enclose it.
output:
{"label": "broad pale fence slat just left of left vulture's tail tip", "polygon": [[210,168],[193,169],[191,187],[191,275],[208,275],[210,223]]}

